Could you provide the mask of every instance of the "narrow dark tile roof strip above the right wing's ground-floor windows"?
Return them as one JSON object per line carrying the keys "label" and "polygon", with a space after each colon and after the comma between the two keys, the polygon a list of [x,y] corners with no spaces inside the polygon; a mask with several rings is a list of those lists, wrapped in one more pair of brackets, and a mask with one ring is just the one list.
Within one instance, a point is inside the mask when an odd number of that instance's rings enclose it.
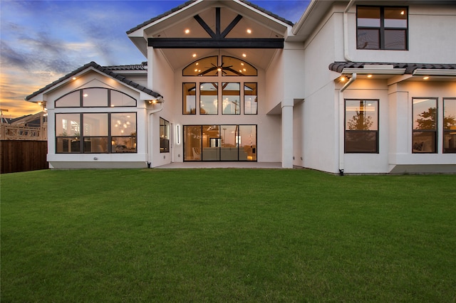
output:
{"label": "narrow dark tile roof strip above the right wing's ground-floor windows", "polygon": [[456,70],[456,64],[430,64],[430,63],[372,63],[372,62],[334,62],[329,69],[342,73],[344,68],[364,68],[364,65],[393,65],[393,68],[405,68],[406,74],[413,74],[417,69],[425,70]]}

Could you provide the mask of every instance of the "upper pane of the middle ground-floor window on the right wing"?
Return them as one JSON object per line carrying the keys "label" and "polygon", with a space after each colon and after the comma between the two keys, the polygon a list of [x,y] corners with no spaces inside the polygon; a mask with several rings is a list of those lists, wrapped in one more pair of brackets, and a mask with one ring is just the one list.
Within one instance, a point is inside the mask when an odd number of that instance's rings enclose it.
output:
{"label": "upper pane of the middle ground-floor window on the right wing", "polygon": [[437,99],[413,99],[413,129],[437,130]]}

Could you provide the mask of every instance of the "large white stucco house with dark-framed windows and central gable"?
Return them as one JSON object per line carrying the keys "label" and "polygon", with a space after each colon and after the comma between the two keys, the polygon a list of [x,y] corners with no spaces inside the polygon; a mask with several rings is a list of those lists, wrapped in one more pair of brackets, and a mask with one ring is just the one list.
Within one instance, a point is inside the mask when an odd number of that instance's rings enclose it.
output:
{"label": "large white stucco house with dark-framed windows and central gable", "polygon": [[456,172],[454,1],[313,0],[294,24],[188,1],[127,32],[140,65],[88,63],[46,102],[51,168],[281,162]]}

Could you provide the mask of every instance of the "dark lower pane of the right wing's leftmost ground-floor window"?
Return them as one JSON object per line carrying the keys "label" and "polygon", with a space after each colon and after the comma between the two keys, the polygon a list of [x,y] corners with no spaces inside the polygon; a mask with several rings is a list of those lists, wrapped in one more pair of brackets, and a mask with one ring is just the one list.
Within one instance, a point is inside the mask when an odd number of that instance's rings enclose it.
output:
{"label": "dark lower pane of the right wing's leftmost ground-floor window", "polygon": [[376,153],[378,147],[378,132],[346,131],[346,153]]}

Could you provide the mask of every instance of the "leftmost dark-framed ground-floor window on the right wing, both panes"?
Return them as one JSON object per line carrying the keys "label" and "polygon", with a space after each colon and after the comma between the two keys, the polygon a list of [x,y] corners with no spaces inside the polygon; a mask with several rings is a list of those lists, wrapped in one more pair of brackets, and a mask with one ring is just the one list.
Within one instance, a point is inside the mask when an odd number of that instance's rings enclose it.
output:
{"label": "leftmost dark-framed ground-floor window on the right wing, both panes", "polygon": [[378,100],[345,101],[345,152],[378,153]]}

